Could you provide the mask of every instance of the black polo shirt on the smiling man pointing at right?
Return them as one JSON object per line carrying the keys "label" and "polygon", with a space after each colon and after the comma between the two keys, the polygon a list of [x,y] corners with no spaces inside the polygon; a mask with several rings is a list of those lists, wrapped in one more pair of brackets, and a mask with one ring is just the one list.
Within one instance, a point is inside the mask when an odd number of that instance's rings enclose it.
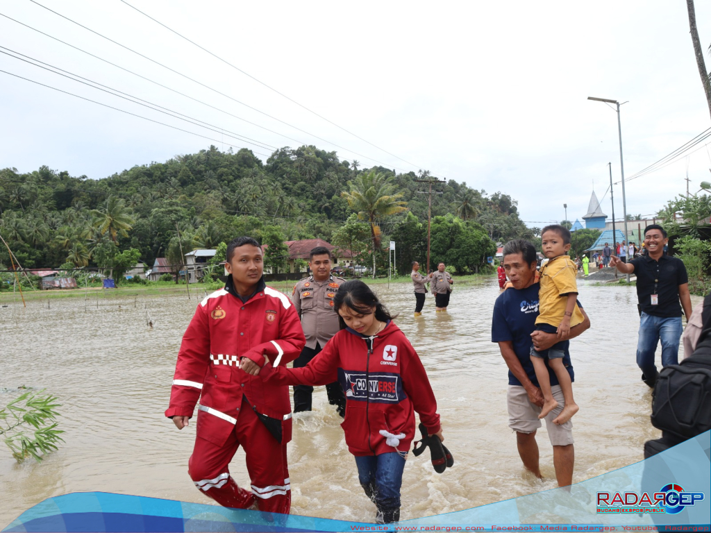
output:
{"label": "black polo shirt on the smiling man pointing at right", "polygon": [[[670,318],[681,316],[679,286],[689,282],[686,267],[678,257],[663,255],[655,261],[648,255],[632,259],[637,275],[639,308],[648,315]],[[657,295],[657,305],[652,305],[652,294]]]}

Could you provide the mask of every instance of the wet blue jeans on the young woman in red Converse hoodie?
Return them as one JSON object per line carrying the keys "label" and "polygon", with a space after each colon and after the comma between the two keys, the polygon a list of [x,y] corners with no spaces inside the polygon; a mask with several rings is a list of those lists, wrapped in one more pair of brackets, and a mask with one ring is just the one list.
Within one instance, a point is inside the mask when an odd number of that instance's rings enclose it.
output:
{"label": "wet blue jeans on the young woman in red Converse hoodie", "polygon": [[[397,452],[381,453],[379,456],[356,456],[358,480],[370,500],[375,502],[378,512],[387,517],[400,516],[400,487],[405,458]],[[397,521],[397,519],[395,520]]]}

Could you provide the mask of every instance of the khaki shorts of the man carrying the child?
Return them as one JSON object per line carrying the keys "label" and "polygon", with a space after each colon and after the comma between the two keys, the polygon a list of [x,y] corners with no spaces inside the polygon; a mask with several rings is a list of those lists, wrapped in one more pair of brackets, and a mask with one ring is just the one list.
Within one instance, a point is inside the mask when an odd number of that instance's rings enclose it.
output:
{"label": "khaki shorts of the man carrying the child", "polygon": [[[569,420],[562,426],[553,424],[553,419],[563,410],[563,393],[560,385],[553,385],[550,389],[553,398],[558,402],[558,407],[545,417],[545,429],[553,446],[567,446],[573,443],[573,423]],[[538,418],[540,407],[528,400],[526,389],[520,385],[508,386],[506,403],[508,404],[508,427],[513,431],[529,434],[542,426]]]}

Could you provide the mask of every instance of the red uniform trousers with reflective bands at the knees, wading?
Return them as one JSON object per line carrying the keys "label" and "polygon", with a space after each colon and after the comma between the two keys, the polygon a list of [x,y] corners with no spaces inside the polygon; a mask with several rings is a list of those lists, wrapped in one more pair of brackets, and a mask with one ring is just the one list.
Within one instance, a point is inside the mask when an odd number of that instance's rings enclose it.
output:
{"label": "red uniform trousers with reflective bands at the knees, wading", "polygon": [[[198,436],[188,461],[188,473],[198,489],[224,507],[246,509],[256,498],[260,511],[289,514],[292,490],[287,466],[287,443],[277,442],[245,399],[242,399],[235,429],[223,446],[201,438],[200,416],[213,415],[198,414]],[[238,487],[230,476],[229,464],[240,445],[247,456],[251,492]]]}

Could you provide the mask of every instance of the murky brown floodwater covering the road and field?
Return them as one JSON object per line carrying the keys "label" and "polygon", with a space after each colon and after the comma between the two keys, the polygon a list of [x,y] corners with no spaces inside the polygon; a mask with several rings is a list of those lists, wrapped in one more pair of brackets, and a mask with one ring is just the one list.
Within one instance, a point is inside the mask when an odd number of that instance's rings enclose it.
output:
{"label": "murky brown floodwater covering the road and field", "polygon": [[[375,286],[419,352],[437,397],[454,468],[439,475],[429,453],[407,460],[402,519],[464,510],[555,488],[545,424],[538,431],[541,470],[523,470],[508,429],[506,365],[491,343],[496,279],[456,286],[449,313],[434,313],[428,296],[412,317],[410,284]],[[635,364],[634,287],[580,283],[592,328],[572,340],[574,482],[643,459],[643,443],[660,432],[649,423],[651,394]],[[62,404],[65,443],[42,463],[18,464],[0,442],[0,528],[48,497],[105,491],[210,504],[187,473],[195,424],[178,431],[163,416],[181,336],[197,301],[184,295],[65,298],[0,308],[0,387],[46,388]],[[134,306],[135,305],[135,306]],[[145,307],[144,307],[145,306]],[[154,323],[146,326],[146,308]],[[18,392],[0,392],[0,406]],[[343,442],[341,419],[323,387],[314,411],[294,416],[289,444],[292,512],[372,522],[375,507],[358,485]],[[194,420],[194,419],[193,419]],[[230,470],[249,485],[242,451]]]}

